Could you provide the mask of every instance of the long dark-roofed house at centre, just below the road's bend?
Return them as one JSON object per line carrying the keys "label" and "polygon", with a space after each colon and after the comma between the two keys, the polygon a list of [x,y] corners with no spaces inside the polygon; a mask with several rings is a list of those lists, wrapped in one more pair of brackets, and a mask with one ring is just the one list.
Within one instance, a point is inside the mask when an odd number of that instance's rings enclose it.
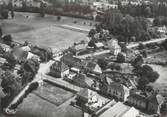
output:
{"label": "long dark-roofed house at centre, just below the road's bend", "polygon": [[78,68],[78,69],[83,69],[84,66],[85,66],[85,62],[82,61],[81,59],[79,58],[76,58],[74,56],[72,56],[71,54],[67,54],[67,55],[64,55],[60,61],[62,61],[63,63],[65,63],[66,65],[68,65],[68,67],[75,67],[75,68]]}

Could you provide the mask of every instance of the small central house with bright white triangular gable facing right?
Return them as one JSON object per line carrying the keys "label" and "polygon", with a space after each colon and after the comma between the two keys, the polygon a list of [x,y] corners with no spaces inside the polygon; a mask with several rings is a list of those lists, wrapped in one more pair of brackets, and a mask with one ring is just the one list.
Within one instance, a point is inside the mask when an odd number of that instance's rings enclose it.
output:
{"label": "small central house with bright white triangular gable facing right", "polygon": [[95,74],[102,73],[100,66],[95,62],[87,62],[85,69],[87,72],[91,72],[91,73],[95,73]]}

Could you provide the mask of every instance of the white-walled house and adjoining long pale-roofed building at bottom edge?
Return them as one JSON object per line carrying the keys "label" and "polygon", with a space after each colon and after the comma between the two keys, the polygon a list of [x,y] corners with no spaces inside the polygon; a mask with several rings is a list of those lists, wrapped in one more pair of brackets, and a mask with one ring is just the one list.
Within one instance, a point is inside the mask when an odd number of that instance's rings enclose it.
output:
{"label": "white-walled house and adjoining long pale-roofed building at bottom edge", "polygon": [[135,107],[125,105],[123,102],[101,101],[97,93],[83,89],[77,93],[76,105],[90,113],[91,117],[145,117]]}

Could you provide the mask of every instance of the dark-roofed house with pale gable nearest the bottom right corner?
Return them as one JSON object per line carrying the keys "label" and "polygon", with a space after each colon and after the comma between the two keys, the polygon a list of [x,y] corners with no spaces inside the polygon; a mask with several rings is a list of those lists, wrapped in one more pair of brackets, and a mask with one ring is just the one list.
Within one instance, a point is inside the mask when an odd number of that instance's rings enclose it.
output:
{"label": "dark-roofed house with pale gable nearest the bottom right corner", "polygon": [[152,114],[160,113],[161,105],[164,102],[164,97],[160,94],[153,94],[152,96],[148,97],[148,112]]}

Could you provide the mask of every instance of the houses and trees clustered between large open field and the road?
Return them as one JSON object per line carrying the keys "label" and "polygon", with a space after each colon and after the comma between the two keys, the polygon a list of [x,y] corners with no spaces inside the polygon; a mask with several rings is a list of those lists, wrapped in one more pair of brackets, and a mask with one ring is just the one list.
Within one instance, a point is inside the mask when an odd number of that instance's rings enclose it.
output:
{"label": "houses and trees clustered between large open field and the road", "polygon": [[117,39],[109,36],[110,35],[106,31],[103,33],[96,33],[85,43],[75,44],[70,47],[68,51],[75,56],[82,56],[84,54],[91,54],[95,51],[109,50],[110,54],[117,56],[118,53],[121,52],[121,47]]}

